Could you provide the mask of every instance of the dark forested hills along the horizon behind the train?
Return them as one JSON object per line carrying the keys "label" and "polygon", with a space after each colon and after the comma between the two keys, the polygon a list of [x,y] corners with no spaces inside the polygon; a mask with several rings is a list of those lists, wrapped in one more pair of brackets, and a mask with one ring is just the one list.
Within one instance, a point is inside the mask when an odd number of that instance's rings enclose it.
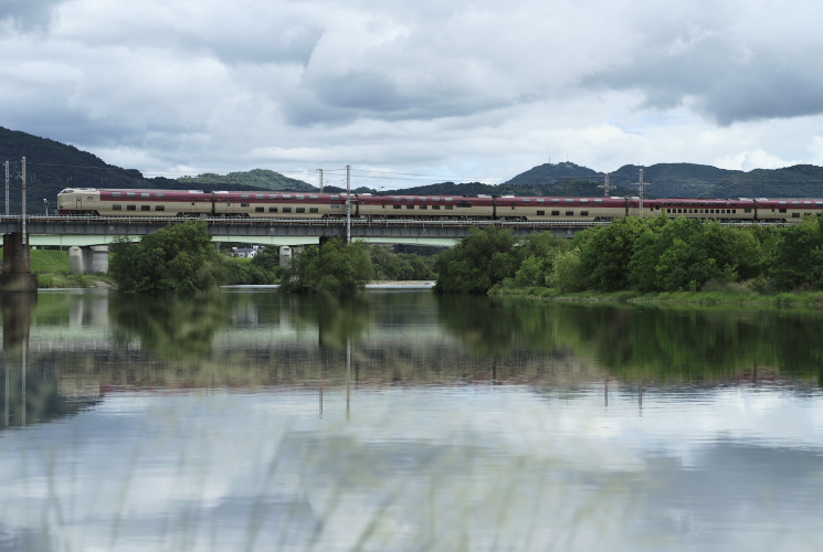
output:
{"label": "dark forested hills along the horizon behind the train", "polygon": [[[42,212],[46,199],[52,209],[57,192],[76,188],[133,188],[188,190],[273,190],[316,191],[302,180],[266,169],[231,172],[225,176],[202,173],[197,177],[168,179],[145,178],[135,169],[108,164],[97,156],[74,146],[0,127],[0,163],[9,160],[12,176],[20,173],[20,159],[27,157],[29,212]],[[610,183],[618,188],[612,195],[636,195],[631,184],[637,182],[641,167],[624,164],[610,172]],[[695,163],[656,163],[642,167],[647,193],[656,198],[823,198],[823,167],[798,164],[783,169],[756,169],[749,172],[718,169]],[[603,173],[573,162],[544,163],[510,180],[490,185],[482,182],[442,182],[437,184],[389,190],[386,194],[421,195],[603,195]],[[10,211],[20,211],[20,180],[12,187]],[[327,191],[342,191],[326,187]],[[378,193],[356,188],[358,192]]]}

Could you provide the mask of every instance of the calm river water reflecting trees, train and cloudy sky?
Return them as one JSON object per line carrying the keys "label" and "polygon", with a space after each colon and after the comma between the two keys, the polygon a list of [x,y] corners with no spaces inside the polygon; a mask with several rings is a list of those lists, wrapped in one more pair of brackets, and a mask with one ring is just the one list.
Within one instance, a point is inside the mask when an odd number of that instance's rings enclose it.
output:
{"label": "calm river water reflecting trees, train and cloudy sky", "polygon": [[3,297],[0,551],[823,550],[823,316]]}

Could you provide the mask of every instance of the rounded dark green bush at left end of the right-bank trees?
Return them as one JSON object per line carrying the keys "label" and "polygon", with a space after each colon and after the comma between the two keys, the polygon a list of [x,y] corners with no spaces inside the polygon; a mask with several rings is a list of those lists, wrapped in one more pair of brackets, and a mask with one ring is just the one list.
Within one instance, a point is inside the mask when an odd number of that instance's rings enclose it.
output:
{"label": "rounded dark green bush at left end of the right-bank trees", "polygon": [[471,235],[452,250],[437,255],[434,270],[437,293],[485,294],[495,284],[515,276],[519,257],[510,230],[487,226],[472,229]]}

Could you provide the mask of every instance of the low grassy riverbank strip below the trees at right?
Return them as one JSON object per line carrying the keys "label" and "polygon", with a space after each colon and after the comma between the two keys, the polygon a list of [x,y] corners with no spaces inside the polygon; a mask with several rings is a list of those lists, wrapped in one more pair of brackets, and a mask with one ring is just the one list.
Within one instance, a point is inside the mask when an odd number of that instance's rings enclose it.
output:
{"label": "low grassy riverbank strip below the trees at right", "polygon": [[823,291],[795,291],[774,295],[758,294],[741,288],[736,291],[675,291],[642,294],[640,291],[561,294],[552,288],[492,288],[489,295],[534,297],[558,301],[696,304],[696,305],[769,305],[775,307],[823,308]]}

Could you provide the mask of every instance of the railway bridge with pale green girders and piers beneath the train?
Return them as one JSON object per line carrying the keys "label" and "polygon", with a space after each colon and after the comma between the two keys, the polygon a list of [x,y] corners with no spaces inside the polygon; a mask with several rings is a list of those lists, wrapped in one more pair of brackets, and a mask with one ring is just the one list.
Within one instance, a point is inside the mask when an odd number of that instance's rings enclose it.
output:
{"label": "railway bridge with pale green girders and piers beneath the train", "polygon": [[[78,259],[76,272],[106,272],[108,244],[127,237],[157,232],[170,224],[191,217],[175,216],[77,216],[77,215],[6,215],[0,216],[3,234],[3,270],[0,290],[36,290],[36,278],[31,274],[31,246],[59,245],[70,250]],[[603,222],[510,222],[490,220],[365,220],[352,217],[350,229],[346,219],[252,219],[202,217],[213,242],[241,242],[260,245],[312,245],[325,240],[346,236],[370,243],[407,243],[454,245],[466,237],[471,229],[496,226],[511,229],[516,235],[551,232],[556,236],[572,237],[577,232]]]}

